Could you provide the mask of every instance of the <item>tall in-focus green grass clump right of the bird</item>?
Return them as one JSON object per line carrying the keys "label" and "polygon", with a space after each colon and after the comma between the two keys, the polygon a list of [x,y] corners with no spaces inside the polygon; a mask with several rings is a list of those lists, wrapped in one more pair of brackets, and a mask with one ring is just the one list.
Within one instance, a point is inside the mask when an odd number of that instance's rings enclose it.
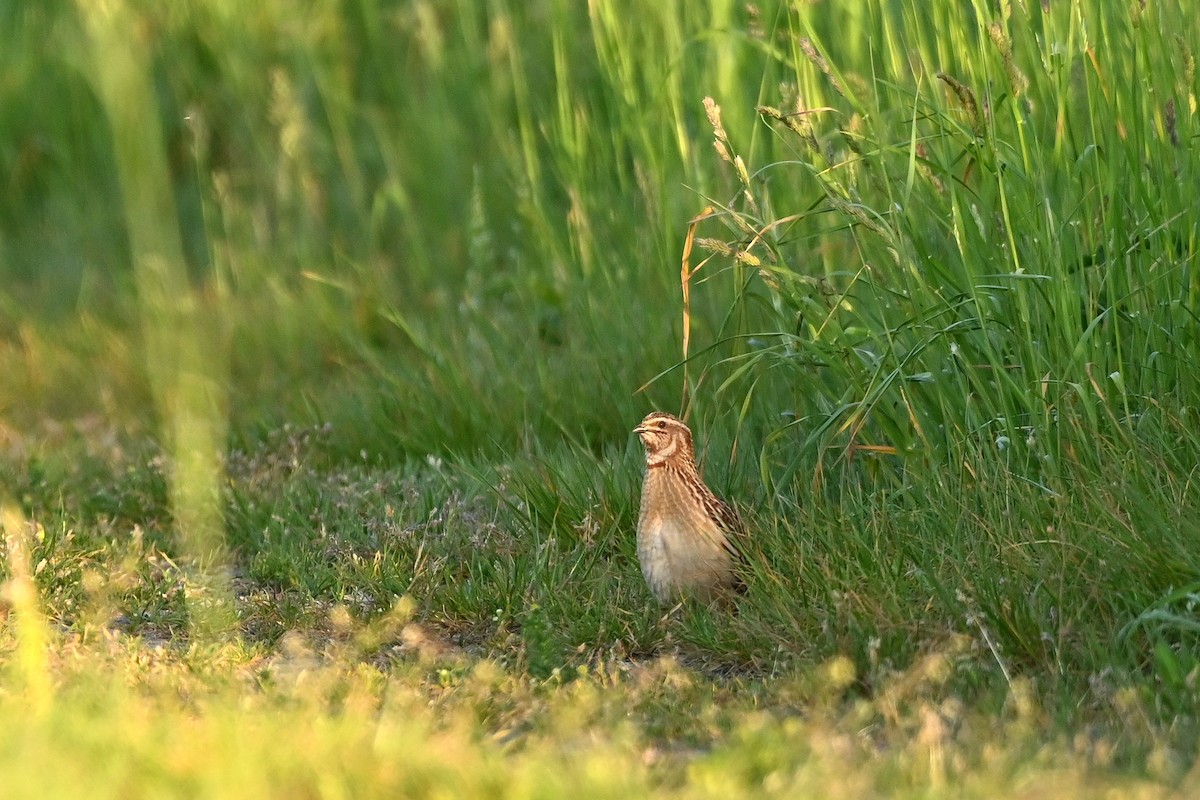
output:
{"label": "tall in-focus green grass clump right of the bird", "polygon": [[[785,640],[870,674],[965,634],[984,694],[1037,675],[1068,709],[1109,670],[1148,670],[1162,720],[1194,726],[1177,615],[1160,655],[1154,634],[1110,646],[1200,567],[1182,533],[1196,225],[1177,191],[1195,164],[1164,116],[1190,97],[1172,31],[1194,20],[1076,11],[842,10],[872,42],[856,52],[838,14],[794,8],[772,40],[788,79],[757,109],[774,137],[742,145],[706,101],[728,199],[684,289],[720,276],[732,300],[692,391],[778,415],[768,600],[696,628],[713,650],[740,628],[758,661]],[[714,218],[725,235],[702,235]]]}

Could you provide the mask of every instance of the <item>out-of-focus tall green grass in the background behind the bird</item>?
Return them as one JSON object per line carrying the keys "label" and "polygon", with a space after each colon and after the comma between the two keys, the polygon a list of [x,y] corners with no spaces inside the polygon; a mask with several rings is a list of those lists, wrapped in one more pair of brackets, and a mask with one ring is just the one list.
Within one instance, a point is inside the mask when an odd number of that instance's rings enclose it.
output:
{"label": "out-of-focus tall green grass in the background behind the bird", "polygon": [[[630,397],[678,354],[673,264],[697,206],[685,185],[715,168],[698,98],[706,76],[728,83],[760,61],[725,47],[744,38],[731,7],[649,5],[636,34],[605,5],[128,14],[166,140],[170,201],[154,224],[178,229],[198,302],[230,325],[235,428],[304,414],[356,432],[348,453],[419,453],[581,427],[611,438],[652,404]],[[132,315],[127,198],[107,155],[121,112],[101,104],[86,64],[41,65],[86,52],[72,6],[13,13],[5,35],[19,67],[5,126],[14,296],[67,319]],[[89,102],[36,103],[47,74],[66,84],[58,96]],[[61,170],[26,186],[23,154]],[[49,235],[74,218],[96,236]],[[114,372],[139,369],[128,356]],[[60,359],[41,369],[82,371]],[[109,380],[90,378],[127,391]],[[678,393],[660,386],[654,404]],[[14,386],[7,404],[22,390],[72,404],[37,389]],[[598,391],[620,399],[596,408]]]}

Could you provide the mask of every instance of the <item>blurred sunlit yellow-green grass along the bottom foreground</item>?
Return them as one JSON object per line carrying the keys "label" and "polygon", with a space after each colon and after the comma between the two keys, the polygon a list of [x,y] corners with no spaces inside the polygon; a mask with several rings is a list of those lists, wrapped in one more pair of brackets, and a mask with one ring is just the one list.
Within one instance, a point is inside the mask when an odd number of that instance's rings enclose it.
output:
{"label": "blurred sunlit yellow-green grass along the bottom foreground", "polygon": [[52,702],[0,697],[6,792],[1177,796],[1177,753],[1156,748],[1138,777],[1122,776],[1120,742],[1064,734],[1024,684],[1000,712],[944,697],[953,654],[846,702],[846,660],[769,682],[714,684],[670,657],[539,680],[433,640],[403,614],[392,622],[404,644],[367,661],[384,626],[362,637],[334,625],[270,652],[55,638]]}

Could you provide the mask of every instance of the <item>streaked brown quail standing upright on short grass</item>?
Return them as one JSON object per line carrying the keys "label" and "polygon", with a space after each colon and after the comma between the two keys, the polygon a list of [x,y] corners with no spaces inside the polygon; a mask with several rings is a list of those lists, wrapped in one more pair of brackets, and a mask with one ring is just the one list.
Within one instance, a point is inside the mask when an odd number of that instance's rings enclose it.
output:
{"label": "streaked brown quail standing upright on short grass", "polygon": [[691,431],[654,411],[634,432],[646,447],[637,560],[650,591],[662,603],[684,596],[708,602],[737,587],[740,557],[731,536],[742,523],[700,476]]}

